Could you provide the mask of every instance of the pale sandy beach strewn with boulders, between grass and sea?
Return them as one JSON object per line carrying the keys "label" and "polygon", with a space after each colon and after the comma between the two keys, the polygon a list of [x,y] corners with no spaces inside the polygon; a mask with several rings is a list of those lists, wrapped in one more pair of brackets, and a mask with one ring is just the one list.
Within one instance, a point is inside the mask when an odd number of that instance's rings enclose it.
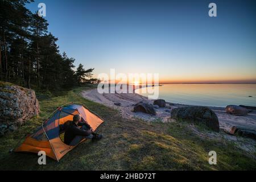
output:
{"label": "pale sandy beach strewn with boulders, between grass and sea", "polygon": [[[170,117],[171,109],[176,107],[184,107],[189,105],[175,104],[167,102],[166,107],[156,109],[156,115],[145,114],[141,112],[134,113],[133,107],[134,104],[137,104],[140,101],[147,101],[153,104],[154,100],[148,100],[147,97],[143,97],[137,93],[98,93],[97,89],[92,90],[84,90],[81,92],[82,97],[98,102],[108,107],[112,107],[117,109],[122,117],[125,118],[141,118],[148,122],[154,121],[162,121],[162,122],[172,122]],[[121,106],[116,106],[114,103],[120,103]],[[225,112],[224,107],[209,107],[216,113],[218,117],[218,121],[220,123],[220,133],[207,132],[201,133],[196,128],[196,135],[200,135],[200,137],[212,138],[212,139],[222,139],[225,138],[233,143],[235,143],[238,147],[242,148],[246,152],[250,154],[254,154],[256,152],[255,146],[256,141],[250,138],[244,137],[235,137],[233,135],[226,134],[224,130],[230,131],[232,126],[241,126],[246,127],[248,129],[256,130],[256,111],[252,111],[246,116],[237,116],[231,115]]]}

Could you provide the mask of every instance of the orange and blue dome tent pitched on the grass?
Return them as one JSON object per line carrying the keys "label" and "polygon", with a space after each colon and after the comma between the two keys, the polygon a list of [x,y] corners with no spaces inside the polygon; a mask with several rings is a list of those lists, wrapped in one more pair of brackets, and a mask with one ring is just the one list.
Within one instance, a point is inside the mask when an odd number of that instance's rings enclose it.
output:
{"label": "orange and blue dome tent pitched on the grass", "polygon": [[[67,152],[76,146],[69,146],[64,143],[64,131],[61,125],[67,121],[72,121],[73,115],[80,114],[83,122],[87,122],[95,131],[104,122],[92,111],[80,104],[67,104],[56,109],[48,119],[42,123],[33,134],[26,137],[24,142],[16,148],[15,152],[46,152],[46,155],[59,161]],[[83,142],[83,139],[81,142]],[[81,143],[80,142],[80,143]]]}

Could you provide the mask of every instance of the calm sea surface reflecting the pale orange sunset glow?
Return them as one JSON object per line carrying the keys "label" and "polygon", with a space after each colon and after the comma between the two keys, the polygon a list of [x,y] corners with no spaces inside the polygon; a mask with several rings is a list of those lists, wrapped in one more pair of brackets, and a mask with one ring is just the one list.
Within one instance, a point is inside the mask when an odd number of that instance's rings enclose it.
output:
{"label": "calm sea surface reflecting the pale orange sunset glow", "polygon": [[[147,96],[141,93],[142,89],[135,92]],[[159,86],[159,98],[188,105],[256,106],[256,84],[164,84]]]}

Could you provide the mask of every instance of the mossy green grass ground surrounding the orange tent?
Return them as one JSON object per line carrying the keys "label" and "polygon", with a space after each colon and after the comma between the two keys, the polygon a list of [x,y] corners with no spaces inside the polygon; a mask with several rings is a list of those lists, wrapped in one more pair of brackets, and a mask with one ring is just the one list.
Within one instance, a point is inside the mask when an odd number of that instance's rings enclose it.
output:
{"label": "mossy green grass ground surrounding the orange tent", "polygon": [[[0,138],[1,170],[251,170],[256,161],[229,142],[201,139],[185,123],[146,122],[122,118],[117,110],[88,101],[80,96],[82,89],[62,96],[41,97],[41,114],[18,131]],[[41,93],[42,94],[42,93]],[[48,94],[51,95],[51,94]],[[9,152],[24,135],[31,133],[57,106],[81,102],[100,115],[105,122],[98,128],[102,140],[90,140],[68,152],[60,162],[47,158],[38,164],[38,156]],[[217,152],[217,165],[208,163],[208,152]]]}

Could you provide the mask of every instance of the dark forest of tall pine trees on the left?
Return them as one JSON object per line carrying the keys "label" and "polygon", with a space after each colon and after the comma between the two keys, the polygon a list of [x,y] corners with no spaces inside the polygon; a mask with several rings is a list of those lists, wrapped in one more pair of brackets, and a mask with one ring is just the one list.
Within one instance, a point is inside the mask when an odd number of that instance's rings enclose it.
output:
{"label": "dark forest of tall pine trees on the left", "polygon": [[47,20],[25,5],[33,0],[0,0],[0,80],[33,89],[68,89],[97,82],[93,69],[75,69],[60,53]]}

